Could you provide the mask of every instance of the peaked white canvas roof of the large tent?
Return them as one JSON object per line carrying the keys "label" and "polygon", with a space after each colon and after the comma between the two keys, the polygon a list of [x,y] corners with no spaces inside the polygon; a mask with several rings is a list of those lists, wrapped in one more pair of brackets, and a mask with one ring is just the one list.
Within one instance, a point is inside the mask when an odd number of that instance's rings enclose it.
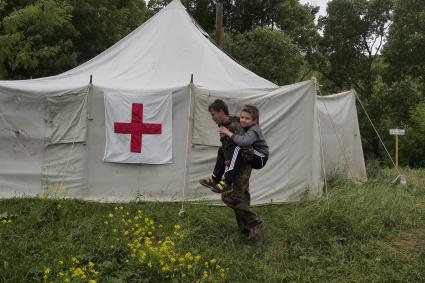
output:
{"label": "peaked white canvas roof of the large tent", "polygon": [[143,25],[90,61],[53,77],[0,81],[23,90],[56,90],[93,84],[110,88],[157,89],[187,85],[214,89],[274,88],[215,46],[172,1]]}

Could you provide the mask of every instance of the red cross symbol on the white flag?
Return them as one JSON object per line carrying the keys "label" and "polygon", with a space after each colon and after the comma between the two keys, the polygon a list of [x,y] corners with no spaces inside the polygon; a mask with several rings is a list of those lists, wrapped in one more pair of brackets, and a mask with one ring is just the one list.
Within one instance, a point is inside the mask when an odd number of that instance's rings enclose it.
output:
{"label": "red cross symbol on the white flag", "polygon": [[142,152],[142,135],[160,135],[161,124],[143,123],[143,104],[133,103],[131,106],[131,123],[114,123],[114,133],[131,134],[131,152]]}

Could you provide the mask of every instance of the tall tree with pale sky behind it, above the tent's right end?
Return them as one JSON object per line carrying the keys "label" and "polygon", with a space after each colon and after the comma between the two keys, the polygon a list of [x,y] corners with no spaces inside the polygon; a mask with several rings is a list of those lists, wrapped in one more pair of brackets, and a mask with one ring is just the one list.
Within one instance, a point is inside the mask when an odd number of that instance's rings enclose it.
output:
{"label": "tall tree with pale sky behind it, above the tent's right end", "polygon": [[323,29],[320,72],[336,88],[353,86],[364,97],[372,95],[376,79],[373,63],[379,57],[391,19],[391,0],[333,0]]}

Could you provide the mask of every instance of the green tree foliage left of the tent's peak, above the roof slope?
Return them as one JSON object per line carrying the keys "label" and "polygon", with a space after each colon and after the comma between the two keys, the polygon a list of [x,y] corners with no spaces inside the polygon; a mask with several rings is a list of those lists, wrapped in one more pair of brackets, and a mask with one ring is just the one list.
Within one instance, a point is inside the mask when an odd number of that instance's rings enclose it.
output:
{"label": "green tree foliage left of the tent's peak, above the roof slope", "polygon": [[66,71],[99,54],[145,17],[142,0],[2,1],[0,78]]}

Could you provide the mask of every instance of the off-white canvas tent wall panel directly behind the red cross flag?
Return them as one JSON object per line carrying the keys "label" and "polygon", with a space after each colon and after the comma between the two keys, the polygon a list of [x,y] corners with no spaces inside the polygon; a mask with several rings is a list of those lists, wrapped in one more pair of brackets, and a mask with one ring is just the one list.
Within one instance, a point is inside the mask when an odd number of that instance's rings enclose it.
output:
{"label": "off-white canvas tent wall panel directly behind the red cross flag", "polygon": [[154,94],[164,90],[113,90],[93,87],[89,94],[88,199],[99,201],[182,199],[188,130],[189,87],[170,89],[173,100],[173,162],[171,164],[120,164],[104,162],[104,95],[110,92]]}

